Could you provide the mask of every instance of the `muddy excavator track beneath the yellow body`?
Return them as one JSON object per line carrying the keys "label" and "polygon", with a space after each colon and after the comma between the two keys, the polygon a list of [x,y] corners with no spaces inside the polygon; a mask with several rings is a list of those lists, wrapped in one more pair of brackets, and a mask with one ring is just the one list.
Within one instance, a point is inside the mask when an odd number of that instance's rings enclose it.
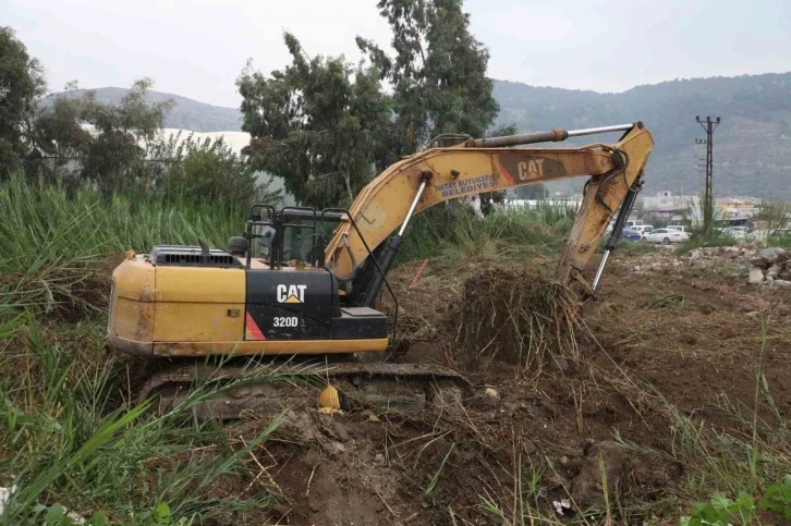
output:
{"label": "muddy excavator track beneath the yellow body", "polygon": [[[212,388],[202,394],[200,386],[207,383]],[[474,393],[462,375],[433,364],[269,362],[211,367],[193,363],[155,374],[137,399],[158,399],[156,411],[163,414],[194,396],[191,405],[198,417],[232,419],[245,411],[315,405],[327,384],[338,389],[345,411],[416,414],[427,403],[460,404]]]}

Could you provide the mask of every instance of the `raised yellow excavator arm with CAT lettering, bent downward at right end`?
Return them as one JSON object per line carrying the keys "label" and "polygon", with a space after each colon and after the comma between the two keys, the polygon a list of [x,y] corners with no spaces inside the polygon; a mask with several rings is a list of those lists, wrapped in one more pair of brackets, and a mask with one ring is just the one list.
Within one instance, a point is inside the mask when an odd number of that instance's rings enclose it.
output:
{"label": "raised yellow excavator arm with CAT lettering, bent downward at right end", "polygon": [[[624,134],[611,145],[597,143],[580,148],[544,149],[514,147],[618,130],[624,131]],[[589,176],[568,246],[558,266],[559,278],[564,283],[577,281],[588,288],[581,272],[630,188],[640,184],[653,147],[650,133],[642,122],[637,122],[579,132],[553,130],[468,139],[448,148],[425,149],[389,167],[363,188],[349,210],[353,222],[343,221],[326,247],[327,268],[339,280],[354,279],[355,273],[365,267],[368,250],[375,250],[402,227],[398,236],[393,236],[399,240],[393,246],[397,252],[411,216],[438,203],[527,184]],[[381,249],[378,253],[381,254]],[[384,267],[389,267],[391,260],[385,259],[378,269],[368,265],[368,273],[386,273],[388,268]],[[377,286],[374,285],[374,289]],[[378,289],[368,292],[370,298]]]}

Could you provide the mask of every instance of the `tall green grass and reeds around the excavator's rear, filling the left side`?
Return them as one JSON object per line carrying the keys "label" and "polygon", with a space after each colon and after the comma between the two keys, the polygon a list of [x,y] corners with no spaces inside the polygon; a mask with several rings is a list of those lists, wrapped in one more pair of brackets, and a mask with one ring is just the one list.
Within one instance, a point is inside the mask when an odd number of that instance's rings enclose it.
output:
{"label": "tall green grass and reeds around the excavator's rear, filling the left side", "polygon": [[[276,496],[253,487],[246,442],[190,418],[206,386],[155,416],[129,405],[141,364],[106,351],[105,259],[157,243],[224,246],[245,210],[88,187],[0,183],[0,486],[15,487],[0,524],[233,524]],[[227,481],[223,491],[218,482]]]}

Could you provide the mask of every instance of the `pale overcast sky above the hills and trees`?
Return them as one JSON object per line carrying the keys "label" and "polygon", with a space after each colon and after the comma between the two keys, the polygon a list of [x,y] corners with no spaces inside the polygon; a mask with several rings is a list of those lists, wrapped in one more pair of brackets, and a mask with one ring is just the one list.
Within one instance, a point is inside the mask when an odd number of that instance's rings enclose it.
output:
{"label": "pale overcast sky above the hills and trees", "polygon": [[[376,0],[0,0],[51,90],[127,87],[239,106],[247,58],[288,62],[282,32],[311,54],[360,58],[356,35],[389,42]],[[622,91],[673,78],[791,70],[791,0],[467,0],[489,75]]]}

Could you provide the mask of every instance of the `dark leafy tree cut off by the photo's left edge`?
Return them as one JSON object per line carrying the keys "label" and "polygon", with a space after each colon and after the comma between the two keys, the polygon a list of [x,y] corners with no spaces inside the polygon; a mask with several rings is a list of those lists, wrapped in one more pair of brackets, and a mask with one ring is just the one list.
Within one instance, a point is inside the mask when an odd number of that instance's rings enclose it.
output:
{"label": "dark leafy tree cut off by the photo's left edge", "polygon": [[36,100],[47,90],[44,68],[10,27],[0,27],[0,175],[20,166],[31,149],[25,131]]}

